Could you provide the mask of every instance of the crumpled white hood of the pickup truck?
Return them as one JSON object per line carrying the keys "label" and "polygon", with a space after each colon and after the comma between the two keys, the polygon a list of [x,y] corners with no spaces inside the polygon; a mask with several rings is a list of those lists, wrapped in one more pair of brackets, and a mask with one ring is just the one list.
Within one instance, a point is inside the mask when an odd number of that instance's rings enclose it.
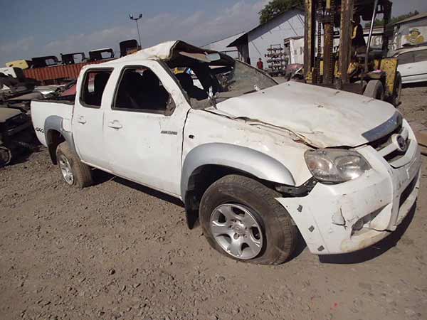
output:
{"label": "crumpled white hood of the pickup truck", "polygon": [[318,148],[366,144],[365,133],[396,113],[389,103],[370,97],[293,81],[230,98],[216,108],[207,110],[285,129]]}

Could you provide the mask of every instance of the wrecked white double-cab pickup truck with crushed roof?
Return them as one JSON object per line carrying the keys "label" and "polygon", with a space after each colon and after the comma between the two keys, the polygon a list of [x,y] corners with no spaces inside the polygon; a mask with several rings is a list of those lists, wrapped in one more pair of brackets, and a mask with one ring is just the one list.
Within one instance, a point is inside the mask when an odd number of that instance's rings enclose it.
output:
{"label": "wrecked white double-cab pickup truck with crushed roof", "polygon": [[189,226],[199,218],[236,260],[284,262],[298,230],[317,255],[360,250],[396,230],[418,195],[418,144],[392,105],[279,85],[182,41],[87,65],[75,101],[31,107],[70,186],[89,186],[97,168],[180,198]]}

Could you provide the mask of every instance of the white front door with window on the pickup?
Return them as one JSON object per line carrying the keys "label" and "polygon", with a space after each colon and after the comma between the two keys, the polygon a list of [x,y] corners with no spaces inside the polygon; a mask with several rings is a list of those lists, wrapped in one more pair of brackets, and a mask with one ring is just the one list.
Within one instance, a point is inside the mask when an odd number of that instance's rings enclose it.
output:
{"label": "white front door with window on the pickup", "polygon": [[189,104],[176,79],[157,61],[122,68],[105,145],[118,176],[179,195],[184,122]]}

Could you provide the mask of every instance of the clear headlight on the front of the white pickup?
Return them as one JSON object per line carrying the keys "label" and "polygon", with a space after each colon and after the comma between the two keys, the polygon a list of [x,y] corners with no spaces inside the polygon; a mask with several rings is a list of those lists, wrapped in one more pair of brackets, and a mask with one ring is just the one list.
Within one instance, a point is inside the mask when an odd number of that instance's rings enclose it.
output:
{"label": "clear headlight on the front of the white pickup", "polygon": [[308,169],[321,182],[340,183],[354,180],[371,169],[367,160],[356,151],[307,150],[304,156]]}

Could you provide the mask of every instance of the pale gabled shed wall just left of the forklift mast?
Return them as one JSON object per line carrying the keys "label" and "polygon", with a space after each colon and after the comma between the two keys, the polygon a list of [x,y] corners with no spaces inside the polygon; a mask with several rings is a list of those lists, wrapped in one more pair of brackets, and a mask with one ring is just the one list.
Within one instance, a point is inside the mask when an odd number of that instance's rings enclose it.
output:
{"label": "pale gabled shed wall just left of the forklift mast", "polygon": [[264,68],[268,65],[265,53],[270,45],[284,46],[285,38],[304,36],[304,13],[291,10],[278,18],[248,33],[249,58],[256,65],[258,58],[263,59]]}

